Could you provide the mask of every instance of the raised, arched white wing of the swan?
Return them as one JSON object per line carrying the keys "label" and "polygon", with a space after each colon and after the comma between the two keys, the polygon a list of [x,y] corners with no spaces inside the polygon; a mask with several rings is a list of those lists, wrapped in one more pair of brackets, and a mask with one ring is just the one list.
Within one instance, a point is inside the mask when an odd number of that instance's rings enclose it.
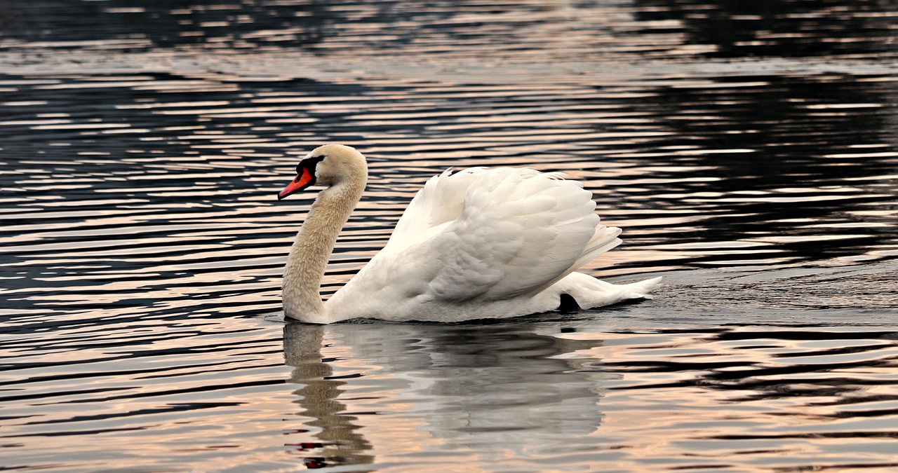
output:
{"label": "raised, arched white wing of the swan", "polygon": [[444,172],[418,192],[369,266],[422,301],[538,293],[620,243],[619,229],[599,223],[592,193],[560,178],[513,168]]}

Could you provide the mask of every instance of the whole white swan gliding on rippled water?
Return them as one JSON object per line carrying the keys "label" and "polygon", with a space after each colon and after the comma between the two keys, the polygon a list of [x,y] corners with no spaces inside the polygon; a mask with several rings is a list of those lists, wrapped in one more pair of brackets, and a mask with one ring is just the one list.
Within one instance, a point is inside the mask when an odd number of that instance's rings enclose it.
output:
{"label": "whole white swan gliding on rippled water", "polygon": [[621,243],[621,229],[599,223],[592,193],[578,182],[531,169],[471,168],[427,180],[383,250],[321,302],[328,258],[367,173],[355,148],[322,145],[277,194],[324,186],[287,257],[287,319],[502,319],[650,298],[661,281],[612,285],[574,272]]}

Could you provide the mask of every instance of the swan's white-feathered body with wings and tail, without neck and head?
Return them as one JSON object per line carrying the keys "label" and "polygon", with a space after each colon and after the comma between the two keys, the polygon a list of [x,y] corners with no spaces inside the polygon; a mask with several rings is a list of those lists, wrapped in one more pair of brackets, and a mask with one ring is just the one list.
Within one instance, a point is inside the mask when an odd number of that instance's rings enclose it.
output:
{"label": "swan's white-feathered body with wings and tail, without neck and head", "polygon": [[453,321],[555,310],[562,284],[582,307],[644,296],[654,284],[618,291],[568,278],[620,244],[621,230],[600,224],[592,194],[562,177],[472,168],[427,180],[386,247],[327,305],[350,312],[341,319]]}

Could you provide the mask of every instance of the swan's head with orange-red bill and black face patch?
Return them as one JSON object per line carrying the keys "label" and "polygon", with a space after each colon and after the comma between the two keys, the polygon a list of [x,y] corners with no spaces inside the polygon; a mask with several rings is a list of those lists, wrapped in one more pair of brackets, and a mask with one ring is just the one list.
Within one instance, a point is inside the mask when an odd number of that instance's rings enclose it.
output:
{"label": "swan's head with orange-red bill and black face patch", "polygon": [[318,146],[296,165],[295,179],[277,193],[277,199],[316,184],[336,186],[347,181],[360,181],[365,187],[367,173],[365,156],[356,148],[346,145]]}

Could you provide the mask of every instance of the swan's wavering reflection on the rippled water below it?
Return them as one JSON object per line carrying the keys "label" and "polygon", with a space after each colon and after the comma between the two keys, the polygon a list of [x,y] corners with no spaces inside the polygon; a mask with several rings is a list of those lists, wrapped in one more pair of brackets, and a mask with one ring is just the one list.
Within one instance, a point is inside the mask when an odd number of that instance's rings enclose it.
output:
{"label": "swan's wavering reflection on the rippled water below it", "polygon": [[618,375],[585,355],[601,340],[563,337],[560,325],[289,323],[286,364],[304,384],[296,402],[312,417],[304,425],[321,429],[296,443],[327,465],[409,445],[471,461],[595,450],[598,403]]}

